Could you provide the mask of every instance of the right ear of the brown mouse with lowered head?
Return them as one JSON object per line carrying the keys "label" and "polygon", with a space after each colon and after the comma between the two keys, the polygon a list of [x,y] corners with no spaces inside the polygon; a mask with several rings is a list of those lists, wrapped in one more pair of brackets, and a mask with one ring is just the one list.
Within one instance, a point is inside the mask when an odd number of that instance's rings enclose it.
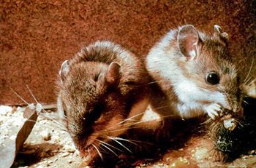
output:
{"label": "right ear of the brown mouse with lowered head", "polygon": [[110,63],[110,65],[108,66],[108,73],[106,76],[108,84],[111,84],[111,86],[113,87],[118,87],[121,75],[121,65],[119,65],[116,62]]}

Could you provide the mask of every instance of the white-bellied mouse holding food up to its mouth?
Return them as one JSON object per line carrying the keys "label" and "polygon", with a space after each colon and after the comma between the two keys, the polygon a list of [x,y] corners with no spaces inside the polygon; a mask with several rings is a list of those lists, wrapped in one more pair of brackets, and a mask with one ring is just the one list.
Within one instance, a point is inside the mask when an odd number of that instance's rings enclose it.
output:
{"label": "white-bellied mouse holding food up to its mouth", "polygon": [[172,117],[243,116],[238,68],[228,52],[228,34],[219,25],[213,33],[194,25],[170,30],[150,49],[145,64],[151,78],[151,108],[163,116],[167,127]]}

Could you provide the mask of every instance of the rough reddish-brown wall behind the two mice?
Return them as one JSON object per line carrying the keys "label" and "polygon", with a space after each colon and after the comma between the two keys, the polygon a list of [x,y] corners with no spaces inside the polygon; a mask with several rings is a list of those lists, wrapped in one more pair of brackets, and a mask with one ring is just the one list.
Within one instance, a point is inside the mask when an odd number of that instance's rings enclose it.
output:
{"label": "rough reddish-brown wall behind the two mice", "polygon": [[246,76],[255,59],[253,6],[255,1],[239,0],[1,1],[0,104],[22,103],[10,88],[32,102],[26,84],[39,102],[54,103],[61,63],[80,47],[108,39],[144,57],[166,31],[186,23],[206,31],[217,24],[227,31]]}

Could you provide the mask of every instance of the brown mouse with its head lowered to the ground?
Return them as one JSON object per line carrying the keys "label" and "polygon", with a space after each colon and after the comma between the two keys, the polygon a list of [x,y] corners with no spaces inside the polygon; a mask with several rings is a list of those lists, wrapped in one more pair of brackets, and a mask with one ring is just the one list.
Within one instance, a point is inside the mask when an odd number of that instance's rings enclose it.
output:
{"label": "brown mouse with its head lowered to the ground", "polygon": [[59,116],[86,161],[111,153],[108,143],[121,144],[118,136],[143,116],[149,103],[147,76],[135,54],[111,41],[83,47],[62,63]]}

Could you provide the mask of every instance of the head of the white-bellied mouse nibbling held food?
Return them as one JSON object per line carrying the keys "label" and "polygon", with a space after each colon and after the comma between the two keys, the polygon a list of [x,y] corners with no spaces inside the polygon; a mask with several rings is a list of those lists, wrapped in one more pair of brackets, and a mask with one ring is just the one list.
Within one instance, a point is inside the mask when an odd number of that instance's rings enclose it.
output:
{"label": "head of the white-bellied mouse nibbling held food", "polygon": [[197,86],[202,103],[218,103],[230,111],[242,113],[242,92],[236,66],[227,49],[228,35],[214,25],[211,36],[193,25],[178,29],[180,57],[184,58],[184,76]]}

